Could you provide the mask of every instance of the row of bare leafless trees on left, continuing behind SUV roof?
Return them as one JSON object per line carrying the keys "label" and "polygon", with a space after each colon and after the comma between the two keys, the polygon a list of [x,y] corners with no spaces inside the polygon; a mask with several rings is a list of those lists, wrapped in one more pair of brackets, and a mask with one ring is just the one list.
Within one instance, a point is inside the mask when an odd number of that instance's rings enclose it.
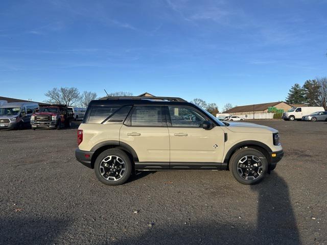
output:
{"label": "row of bare leafless trees on left, continuing behind SUV roof", "polygon": [[[90,101],[100,99],[96,92],[80,92],[76,87],[53,88],[44,94],[48,97],[46,103],[64,104],[67,106],[87,107]],[[111,92],[108,96],[132,96],[131,92]]]}

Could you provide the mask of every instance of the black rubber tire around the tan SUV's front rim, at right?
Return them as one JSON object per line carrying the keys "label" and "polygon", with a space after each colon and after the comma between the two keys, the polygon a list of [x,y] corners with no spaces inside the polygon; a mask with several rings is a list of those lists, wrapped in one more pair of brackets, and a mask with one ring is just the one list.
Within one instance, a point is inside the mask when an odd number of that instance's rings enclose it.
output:
{"label": "black rubber tire around the tan SUV's front rim, at right", "polygon": [[[248,163],[247,160],[248,160],[249,157],[247,157],[247,156],[254,156],[254,159],[256,159],[256,160],[259,159],[260,160],[260,162],[261,162],[260,171],[258,170],[259,167],[254,167],[253,165],[252,166],[247,166],[247,164],[244,164],[243,162],[242,163],[239,163],[242,159],[246,159],[246,163]],[[239,164],[240,165],[241,164],[245,165],[245,169],[246,169],[245,172],[248,169],[246,167],[253,168],[253,170],[251,170],[251,171],[253,171],[254,174],[256,173],[256,175],[258,175],[258,176],[255,177],[251,173],[249,173],[249,174],[251,174],[251,176],[247,176],[246,173],[243,172],[243,170],[241,169],[241,167],[240,167]],[[258,164],[259,164],[259,162],[258,162]],[[241,150],[238,150],[237,152],[235,152],[231,156],[231,158],[229,160],[229,170],[231,171],[232,175],[234,176],[234,178],[238,182],[240,182],[240,183],[242,183],[244,185],[254,185],[254,184],[257,184],[260,181],[262,181],[262,179],[267,174],[267,171],[268,171],[268,161],[267,161],[265,155],[263,153],[261,153],[260,151],[255,150],[255,149],[252,149],[252,148],[243,148]],[[241,175],[242,176],[244,175],[244,177],[242,177]],[[245,176],[247,176],[247,177],[245,177]],[[249,179],[249,180],[245,179],[245,178],[250,178],[250,177],[252,178],[252,176],[253,176],[253,179]]]}

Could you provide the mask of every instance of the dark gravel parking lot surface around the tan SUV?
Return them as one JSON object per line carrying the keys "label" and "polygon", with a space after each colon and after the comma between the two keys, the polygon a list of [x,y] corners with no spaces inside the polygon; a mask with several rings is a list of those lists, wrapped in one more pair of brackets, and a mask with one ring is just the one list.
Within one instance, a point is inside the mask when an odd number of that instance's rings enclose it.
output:
{"label": "dark gravel parking lot surface around the tan SUV", "polygon": [[0,244],[327,244],[327,123],[255,121],[285,156],[262,183],[157,171],[122,186],[75,160],[77,126],[0,132]]}

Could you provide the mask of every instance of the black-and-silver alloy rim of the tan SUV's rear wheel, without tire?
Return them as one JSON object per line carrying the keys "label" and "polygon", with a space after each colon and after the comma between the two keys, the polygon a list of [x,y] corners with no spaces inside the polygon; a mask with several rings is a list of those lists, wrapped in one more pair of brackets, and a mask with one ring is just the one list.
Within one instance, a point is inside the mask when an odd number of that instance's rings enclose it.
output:
{"label": "black-and-silver alloy rim of the tan SUV's rear wheel, without tire", "polygon": [[126,165],[118,156],[107,156],[100,163],[100,173],[108,181],[121,179],[126,171]]}

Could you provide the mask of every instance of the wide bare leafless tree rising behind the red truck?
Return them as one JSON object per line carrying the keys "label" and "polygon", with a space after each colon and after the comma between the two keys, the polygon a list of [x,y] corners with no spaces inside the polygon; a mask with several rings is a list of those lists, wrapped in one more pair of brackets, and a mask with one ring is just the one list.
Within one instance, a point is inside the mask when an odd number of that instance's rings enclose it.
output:
{"label": "wide bare leafless tree rising behind the red truck", "polygon": [[53,88],[45,93],[45,96],[49,97],[48,103],[65,104],[67,106],[73,106],[81,100],[80,92],[75,87],[61,87]]}

